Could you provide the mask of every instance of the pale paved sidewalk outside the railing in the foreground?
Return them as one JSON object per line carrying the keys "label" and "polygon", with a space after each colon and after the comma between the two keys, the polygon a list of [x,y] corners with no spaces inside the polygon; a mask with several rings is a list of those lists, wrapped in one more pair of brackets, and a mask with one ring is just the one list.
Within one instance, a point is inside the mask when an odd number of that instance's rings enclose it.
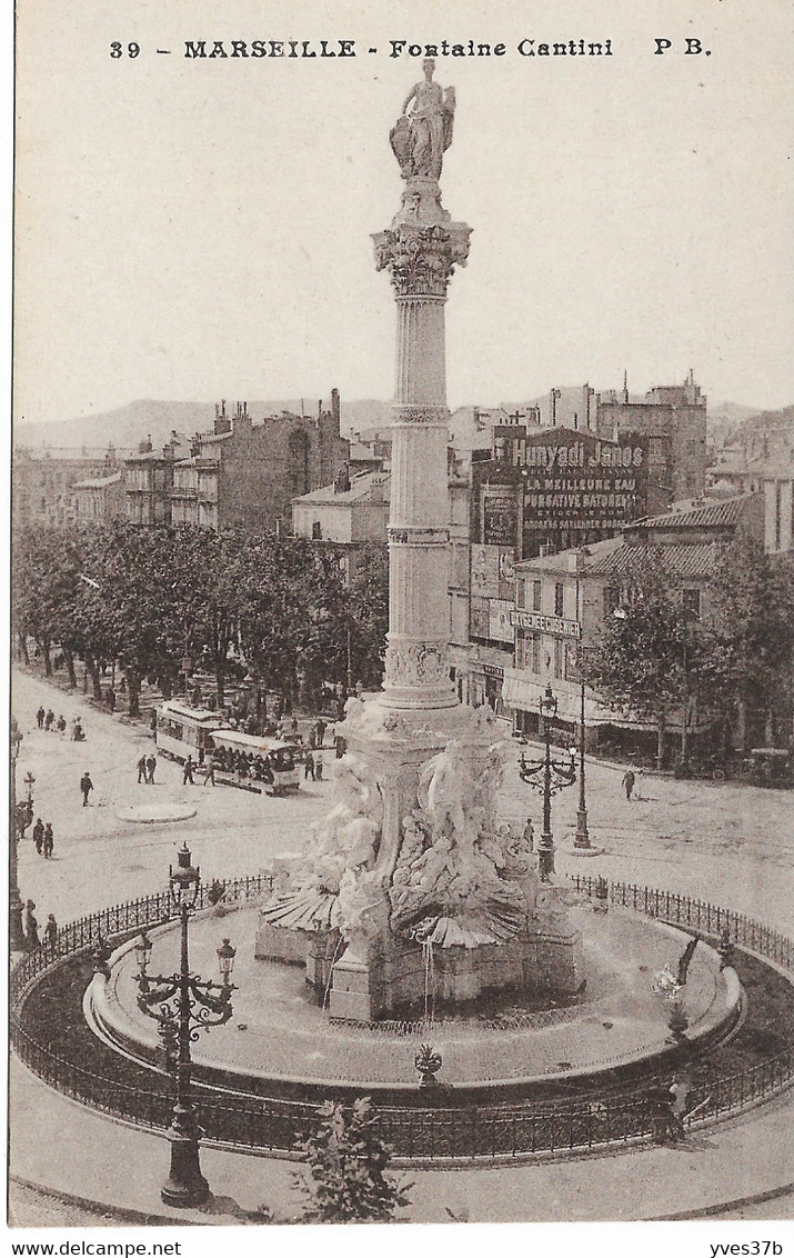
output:
{"label": "pale paved sidewalk outside the railing in the foreground", "polygon": [[[75,1205],[95,1203],[99,1211],[138,1224],[227,1227],[255,1223],[261,1205],[276,1219],[293,1219],[300,1211],[295,1162],[216,1149],[201,1154],[211,1201],[191,1210],[163,1205],[165,1138],[67,1099],[15,1058],[10,1082],[13,1181],[65,1195]],[[716,1208],[722,1213],[769,1194],[753,1216],[775,1219],[781,1216],[778,1203],[785,1191],[794,1191],[793,1120],[789,1091],[724,1126],[697,1131],[676,1147],[475,1170],[412,1169],[407,1215],[412,1223],[624,1222],[715,1214]],[[79,1156],[68,1155],[67,1141]],[[106,1222],[99,1213],[97,1224]]]}

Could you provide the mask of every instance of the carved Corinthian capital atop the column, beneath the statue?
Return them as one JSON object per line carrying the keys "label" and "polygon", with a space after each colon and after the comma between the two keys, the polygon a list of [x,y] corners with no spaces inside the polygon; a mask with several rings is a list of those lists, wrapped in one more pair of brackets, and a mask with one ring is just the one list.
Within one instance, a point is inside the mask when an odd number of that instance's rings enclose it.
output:
{"label": "carved Corinthian capital atop the column, beneath the statue", "polygon": [[373,237],[376,269],[388,270],[398,297],[446,297],[455,267],[466,265],[470,231],[462,223],[398,223]]}

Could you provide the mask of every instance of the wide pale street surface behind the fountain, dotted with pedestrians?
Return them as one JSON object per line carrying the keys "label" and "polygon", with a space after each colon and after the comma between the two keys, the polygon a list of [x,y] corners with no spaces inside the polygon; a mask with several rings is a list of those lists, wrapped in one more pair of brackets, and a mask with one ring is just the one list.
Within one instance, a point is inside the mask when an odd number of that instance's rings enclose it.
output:
{"label": "wide pale street surface behind the fountain, dotted with pedestrians", "polygon": [[[74,743],[36,728],[39,704],[78,713],[87,741]],[[136,764],[153,740],[142,725],[95,711],[82,694],[65,694],[21,671],[14,672],[13,711],[24,735],[16,766],[18,798],[26,772],[35,776],[34,816],[52,821],[52,860],[36,854],[30,830],[20,843],[23,899],[36,903],[40,926],[53,912],[60,925],[163,884],[185,840],[205,877],[254,873],[275,853],[299,850],[308,827],[323,815],[332,782],[304,782],[296,796],[270,798],[227,786],[182,785],[181,766],[157,757],[153,786],[138,784]],[[505,723],[498,725],[509,736]],[[518,760],[518,747],[509,743]],[[327,776],[333,750],[325,749]],[[79,780],[88,770],[94,790],[82,806]],[[685,892],[791,930],[794,903],[794,795],[790,791],[643,774],[631,803],[622,769],[588,761],[587,804],[592,842],[603,855],[570,854],[578,785],[553,801],[557,872],[604,876]],[[173,823],[121,820],[139,805],[195,809]],[[530,815],[541,829],[540,796],[508,771],[501,815],[519,832]]]}

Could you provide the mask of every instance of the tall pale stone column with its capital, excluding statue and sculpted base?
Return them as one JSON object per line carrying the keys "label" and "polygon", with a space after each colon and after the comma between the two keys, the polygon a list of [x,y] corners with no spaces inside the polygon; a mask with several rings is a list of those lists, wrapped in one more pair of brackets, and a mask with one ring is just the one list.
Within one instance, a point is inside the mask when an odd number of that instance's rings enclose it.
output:
{"label": "tall pale stone column with its capital, excluding statue and sculpted base", "polygon": [[406,180],[400,213],[373,237],[397,303],[397,370],[388,527],[389,629],[381,703],[455,707],[449,638],[449,491],[443,307],[471,228],[451,223],[438,181]]}

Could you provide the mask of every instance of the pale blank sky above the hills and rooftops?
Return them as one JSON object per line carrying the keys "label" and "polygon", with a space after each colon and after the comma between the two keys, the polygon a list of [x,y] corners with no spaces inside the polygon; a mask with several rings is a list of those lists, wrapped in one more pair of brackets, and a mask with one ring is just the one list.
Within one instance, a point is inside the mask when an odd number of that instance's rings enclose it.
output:
{"label": "pale blank sky above the hills and rooftops", "polygon": [[[183,55],[258,38],[357,55]],[[712,403],[794,401],[788,0],[19,0],[16,418],[389,399],[371,234],[400,205],[388,131],[421,78],[389,40],[443,38],[506,47],[437,59],[457,99],[443,204],[474,229],[450,405],[690,367]],[[518,52],[579,38],[613,55]]]}

